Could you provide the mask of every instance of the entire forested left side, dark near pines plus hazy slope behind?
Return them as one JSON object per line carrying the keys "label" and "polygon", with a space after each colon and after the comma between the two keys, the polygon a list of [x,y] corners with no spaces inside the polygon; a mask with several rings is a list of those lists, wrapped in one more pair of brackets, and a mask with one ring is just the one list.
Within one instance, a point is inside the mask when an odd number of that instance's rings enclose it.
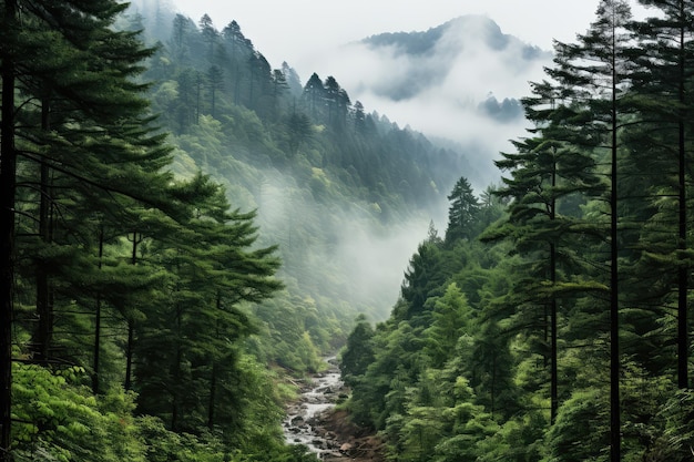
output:
{"label": "entire forested left side, dark near pines plus hazy slope behind", "polygon": [[284,373],[385,317],[404,264],[372,249],[466,167],[161,13],[157,40],[118,1],[3,2],[0,460],[310,460]]}

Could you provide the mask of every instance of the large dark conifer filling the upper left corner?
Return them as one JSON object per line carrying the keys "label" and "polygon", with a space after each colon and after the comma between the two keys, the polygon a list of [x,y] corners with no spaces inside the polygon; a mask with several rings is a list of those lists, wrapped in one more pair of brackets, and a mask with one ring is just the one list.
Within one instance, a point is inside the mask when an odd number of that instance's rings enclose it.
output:
{"label": "large dark conifer filling the upper left corner", "polygon": [[[170,162],[169,148],[163,135],[152,133],[142,97],[146,85],[135,81],[152,50],[136,33],[111,28],[124,8],[111,0],[3,3],[0,176],[3,211],[12,215],[1,225],[8,237],[3,281],[21,278],[25,287],[38,288],[29,304],[34,302],[40,318],[32,350],[42,362],[51,359],[54,343],[67,339],[54,336],[54,309],[89,298],[85,274],[96,267],[89,255],[101,243],[92,216],[101,212],[102,217],[120,218],[124,204],[114,197],[166,206],[157,191],[170,181],[160,172]],[[14,265],[18,251],[32,258]],[[2,328],[9,336],[19,320],[12,316],[11,286],[3,287],[2,299],[8,316]],[[7,392],[2,458],[10,456],[10,346],[2,343],[0,361]]]}

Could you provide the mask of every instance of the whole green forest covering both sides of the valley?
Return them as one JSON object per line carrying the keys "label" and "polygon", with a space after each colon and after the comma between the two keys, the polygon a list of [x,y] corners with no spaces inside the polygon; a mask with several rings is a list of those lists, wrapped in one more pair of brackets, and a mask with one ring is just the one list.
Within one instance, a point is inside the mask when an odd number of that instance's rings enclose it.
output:
{"label": "whole green forest covering both sides of the valley", "polygon": [[[389,460],[692,460],[694,4],[639,3],[476,193],[236,21],[1,1],[0,461],[313,462],[284,405],[336,351]],[[384,295],[354,254],[421,223]]]}

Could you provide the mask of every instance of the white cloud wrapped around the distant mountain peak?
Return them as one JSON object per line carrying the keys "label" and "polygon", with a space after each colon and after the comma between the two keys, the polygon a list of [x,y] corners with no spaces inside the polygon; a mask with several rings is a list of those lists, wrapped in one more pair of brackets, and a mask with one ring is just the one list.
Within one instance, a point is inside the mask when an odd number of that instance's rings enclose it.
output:
{"label": "white cloud wrapped around the distant mountain peak", "polygon": [[492,161],[510,148],[509,140],[524,136],[529,125],[518,100],[529,94],[529,82],[544,78],[551,53],[470,16],[426,32],[376,35],[312,61],[367,112],[477,146],[468,154],[480,177],[469,179],[480,188],[498,181]]}

